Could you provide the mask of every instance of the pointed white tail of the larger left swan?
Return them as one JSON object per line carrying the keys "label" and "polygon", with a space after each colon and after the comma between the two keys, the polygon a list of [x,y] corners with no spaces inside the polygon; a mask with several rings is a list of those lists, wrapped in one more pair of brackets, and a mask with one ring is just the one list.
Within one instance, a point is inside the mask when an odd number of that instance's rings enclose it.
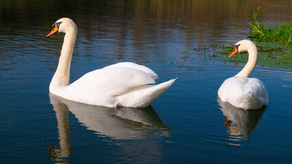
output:
{"label": "pointed white tail of the larger left swan", "polygon": [[[177,78],[176,78],[177,79]],[[171,79],[158,85],[142,85],[132,88],[129,92],[119,95],[117,106],[148,107],[176,81]]]}

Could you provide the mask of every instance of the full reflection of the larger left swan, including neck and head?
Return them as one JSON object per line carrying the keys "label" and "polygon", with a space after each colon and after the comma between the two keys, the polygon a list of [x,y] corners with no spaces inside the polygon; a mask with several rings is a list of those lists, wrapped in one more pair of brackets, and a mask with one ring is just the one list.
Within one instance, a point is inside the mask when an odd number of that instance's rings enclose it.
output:
{"label": "full reflection of the larger left swan, including neck and head", "polygon": [[109,137],[112,140],[145,139],[149,135],[157,135],[157,130],[159,135],[170,137],[168,126],[163,124],[151,106],[109,108],[66,100],[53,94],[49,96],[56,113],[59,132],[59,148],[47,146],[51,155],[55,156],[54,161],[64,162],[64,158],[70,157],[72,152],[68,111],[98,137]]}

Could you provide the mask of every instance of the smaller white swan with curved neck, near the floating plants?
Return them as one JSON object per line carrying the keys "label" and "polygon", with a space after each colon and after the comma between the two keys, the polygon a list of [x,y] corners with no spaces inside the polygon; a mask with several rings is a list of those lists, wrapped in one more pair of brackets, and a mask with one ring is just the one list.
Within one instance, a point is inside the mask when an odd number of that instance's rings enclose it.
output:
{"label": "smaller white swan with curved neck, near the floating plants", "polygon": [[269,94],[262,81],[248,78],[258,58],[256,45],[250,40],[241,40],[235,44],[229,57],[244,51],[248,51],[248,63],[235,77],[230,77],[222,83],[218,96],[223,102],[229,102],[237,108],[259,109],[269,104]]}

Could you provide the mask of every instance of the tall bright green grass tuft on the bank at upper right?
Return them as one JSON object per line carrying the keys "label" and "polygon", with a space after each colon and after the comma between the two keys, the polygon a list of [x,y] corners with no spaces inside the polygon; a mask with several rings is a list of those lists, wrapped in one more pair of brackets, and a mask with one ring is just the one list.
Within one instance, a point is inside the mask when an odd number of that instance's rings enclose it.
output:
{"label": "tall bright green grass tuft on the bank at upper right", "polygon": [[260,25],[258,20],[261,20],[258,7],[257,12],[253,14],[252,23],[250,23],[250,33],[248,38],[258,42],[278,43],[284,46],[292,46],[292,21],[287,24],[280,23],[278,27]]}

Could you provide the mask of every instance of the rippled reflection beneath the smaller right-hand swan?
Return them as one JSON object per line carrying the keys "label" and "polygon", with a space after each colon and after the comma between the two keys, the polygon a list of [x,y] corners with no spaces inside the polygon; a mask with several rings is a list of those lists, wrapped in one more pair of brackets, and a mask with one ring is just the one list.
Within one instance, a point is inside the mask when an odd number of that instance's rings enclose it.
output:
{"label": "rippled reflection beneath the smaller right-hand swan", "polygon": [[256,128],[258,121],[267,108],[264,106],[261,109],[243,110],[230,105],[228,102],[223,102],[219,97],[217,101],[221,107],[220,109],[224,115],[226,128],[228,129],[227,134],[230,137],[228,140],[231,141],[250,139],[252,130]]}

